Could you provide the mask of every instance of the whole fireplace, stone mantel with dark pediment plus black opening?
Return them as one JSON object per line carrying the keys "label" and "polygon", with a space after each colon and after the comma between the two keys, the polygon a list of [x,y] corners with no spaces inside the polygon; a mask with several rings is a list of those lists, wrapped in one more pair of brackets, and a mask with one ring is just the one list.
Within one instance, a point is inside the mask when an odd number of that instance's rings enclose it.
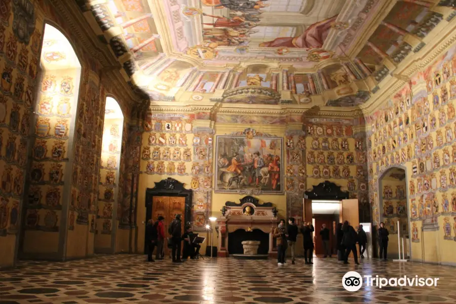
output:
{"label": "whole fireplace, stone mantel with dark pediment plus black opening", "polygon": [[217,256],[242,255],[243,241],[259,241],[258,255],[277,256],[273,232],[278,219],[272,203],[260,204],[258,199],[246,196],[239,203],[226,202],[221,211]]}

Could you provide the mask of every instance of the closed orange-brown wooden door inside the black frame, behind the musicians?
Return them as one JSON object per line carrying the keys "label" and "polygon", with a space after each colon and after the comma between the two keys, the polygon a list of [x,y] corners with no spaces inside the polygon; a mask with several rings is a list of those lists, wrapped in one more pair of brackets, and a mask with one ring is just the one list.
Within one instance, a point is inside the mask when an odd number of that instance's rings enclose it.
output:
{"label": "closed orange-brown wooden door inside the black frame, behind the musicians", "polygon": [[163,225],[165,226],[165,241],[163,244],[165,255],[168,255],[168,227],[176,217],[176,214],[182,215],[182,231],[184,229],[184,211],[185,211],[185,198],[184,197],[159,197],[155,196],[152,200],[152,219],[156,221],[161,215],[165,219]]}

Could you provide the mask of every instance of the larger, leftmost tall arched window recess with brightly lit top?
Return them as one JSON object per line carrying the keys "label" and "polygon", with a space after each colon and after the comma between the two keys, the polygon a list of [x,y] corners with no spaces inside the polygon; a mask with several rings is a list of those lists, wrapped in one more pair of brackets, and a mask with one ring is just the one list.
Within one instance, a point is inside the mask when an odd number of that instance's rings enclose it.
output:
{"label": "larger, leftmost tall arched window recess with brightly lit top", "polygon": [[[33,59],[32,59],[33,60]],[[30,64],[30,67],[32,65]],[[81,63],[65,35],[45,25],[20,238],[23,258],[66,256],[74,125]]]}

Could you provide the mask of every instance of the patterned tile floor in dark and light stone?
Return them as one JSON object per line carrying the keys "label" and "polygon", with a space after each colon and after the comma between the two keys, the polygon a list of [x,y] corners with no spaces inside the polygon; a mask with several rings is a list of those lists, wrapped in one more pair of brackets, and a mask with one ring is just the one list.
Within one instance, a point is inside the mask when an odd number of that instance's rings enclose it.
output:
{"label": "patterned tile floor in dark and light stone", "polygon": [[[455,303],[456,268],[364,259],[361,265],[316,258],[278,267],[274,259],[205,258],[173,264],[143,255],[68,262],[22,261],[0,272],[0,303]],[[437,287],[366,287],[348,292],[347,271],[439,277]]]}

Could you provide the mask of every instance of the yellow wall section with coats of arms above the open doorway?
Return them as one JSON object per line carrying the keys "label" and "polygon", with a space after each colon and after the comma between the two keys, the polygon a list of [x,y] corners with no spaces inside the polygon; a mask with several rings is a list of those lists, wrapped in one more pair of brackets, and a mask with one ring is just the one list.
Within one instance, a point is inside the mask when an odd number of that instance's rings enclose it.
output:
{"label": "yellow wall section with coats of arms above the open doorway", "polygon": [[[360,119],[307,119],[307,185],[329,180],[359,200],[360,221],[370,221],[365,133]],[[325,174],[325,172],[327,172]]]}

